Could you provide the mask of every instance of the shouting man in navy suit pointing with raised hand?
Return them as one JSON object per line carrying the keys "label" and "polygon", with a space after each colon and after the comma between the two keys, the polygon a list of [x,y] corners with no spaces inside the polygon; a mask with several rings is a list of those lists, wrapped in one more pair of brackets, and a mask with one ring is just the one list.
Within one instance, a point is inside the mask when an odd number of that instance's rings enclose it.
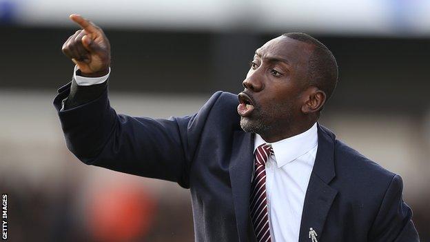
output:
{"label": "shouting man in navy suit pointing with raised hand", "polygon": [[86,164],[190,188],[196,241],[419,241],[400,177],[317,123],[338,68],[316,39],[272,39],[238,96],[150,119],[110,107],[109,41],[71,19],[83,28],[63,45],[75,74],[54,99],[68,148]]}

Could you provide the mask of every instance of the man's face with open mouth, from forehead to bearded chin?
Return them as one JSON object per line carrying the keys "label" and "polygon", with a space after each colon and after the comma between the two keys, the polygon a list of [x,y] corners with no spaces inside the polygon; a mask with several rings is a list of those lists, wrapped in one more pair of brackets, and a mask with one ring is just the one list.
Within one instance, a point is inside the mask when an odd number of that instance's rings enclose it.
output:
{"label": "man's face with open mouth, from forehead to bearded chin", "polygon": [[307,43],[280,36],[256,50],[243,81],[245,90],[238,95],[243,130],[274,134],[299,120],[312,49]]}

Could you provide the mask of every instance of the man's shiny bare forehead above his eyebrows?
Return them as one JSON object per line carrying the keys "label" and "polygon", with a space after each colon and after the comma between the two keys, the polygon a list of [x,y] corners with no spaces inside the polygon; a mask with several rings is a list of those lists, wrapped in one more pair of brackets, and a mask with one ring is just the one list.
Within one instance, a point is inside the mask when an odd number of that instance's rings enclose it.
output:
{"label": "man's shiny bare forehead above his eyebrows", "polygon": [[262,58],[280,57],[289,63],[306,63],[314,48],[303,41],[280,36],[267,41],[256,50],[256,54]]}

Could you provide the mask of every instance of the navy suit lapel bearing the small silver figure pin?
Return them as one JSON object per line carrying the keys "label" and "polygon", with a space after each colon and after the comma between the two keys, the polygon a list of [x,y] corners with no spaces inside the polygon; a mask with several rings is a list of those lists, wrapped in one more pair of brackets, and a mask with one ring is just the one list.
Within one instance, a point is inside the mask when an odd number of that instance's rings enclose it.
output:
{"label": "navy suit lapel bearing the small silver figure pin", "polygon": [[310,228],[318,234],[317,239],[323,234],[331,203],[338,193],[337,190],[328,185],[335,175],[334,134],[318,124],[318,151],[303,205],[300,242],[310,241]]}

